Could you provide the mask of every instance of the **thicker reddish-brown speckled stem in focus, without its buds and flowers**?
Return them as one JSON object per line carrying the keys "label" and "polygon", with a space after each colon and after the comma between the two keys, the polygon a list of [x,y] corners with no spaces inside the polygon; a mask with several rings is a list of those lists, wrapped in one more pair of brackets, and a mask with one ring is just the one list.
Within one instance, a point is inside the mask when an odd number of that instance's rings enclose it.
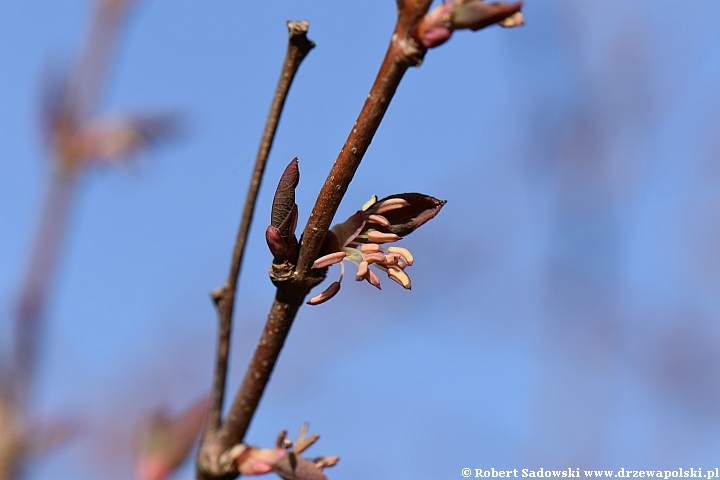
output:
{"label": "thicker reddish-brown speckled stem in focus, without its buds and flowers", "polygon": [[245,437],[263,391],[295,315],[318,275],[310,270],[317,257],[330,222],[390,104],[405,71],[419,65],[425,49],[412,38],[412,30],[430,6],[430,0],[398,1],[398,22],[380,66],[370,95],[358,116],[313,208],[303,234],[300,259],[293,272],[274,268],[277,295],[268,315],[243,382],[223,422],[216,441],[219,451],[241,443]]}

